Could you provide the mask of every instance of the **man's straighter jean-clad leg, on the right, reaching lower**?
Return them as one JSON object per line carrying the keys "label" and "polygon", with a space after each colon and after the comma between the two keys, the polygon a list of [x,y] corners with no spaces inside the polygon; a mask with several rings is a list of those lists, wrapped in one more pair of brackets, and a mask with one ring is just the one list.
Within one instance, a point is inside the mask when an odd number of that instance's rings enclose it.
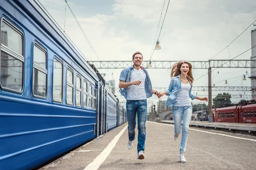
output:
{"label": "man's straighter jean-clad leg, on the right, reaching lower", "polygon": [[138,153],[140,150],[145,150],[145,140],[146,140],[146,119],[147,119],[147,100],[140,100],[137,103],[137,115],[138,115]]}

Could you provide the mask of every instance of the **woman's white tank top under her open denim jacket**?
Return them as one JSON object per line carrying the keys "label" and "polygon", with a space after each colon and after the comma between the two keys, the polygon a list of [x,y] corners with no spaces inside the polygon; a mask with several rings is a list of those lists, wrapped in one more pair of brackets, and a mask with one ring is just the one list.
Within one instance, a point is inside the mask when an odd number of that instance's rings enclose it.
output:
{"label": "woman's white tank top under her open denim jacket", "polygon": [[189,90],[191,86],[188,82],[188,84],[181,83],[181,89],[180,91],[177,91],[177,96],[175,101],[177,103],[173,104],[173,106],[191,106],[191,100],[189,97]]}

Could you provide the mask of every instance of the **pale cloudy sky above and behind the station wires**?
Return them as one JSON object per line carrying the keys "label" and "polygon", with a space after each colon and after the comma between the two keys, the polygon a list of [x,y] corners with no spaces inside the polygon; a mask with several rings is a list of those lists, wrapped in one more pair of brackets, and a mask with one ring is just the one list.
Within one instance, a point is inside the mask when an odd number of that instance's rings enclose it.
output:
{"label": "pale cloudy sky above and behind the station wires", "polygon": [[[67,0],[90,45],[65,0],[39,1],[88,61],[128,61],[132,60],[135,51],[140,51],[144,60],[149,60],[169,2],[165,0],[163,6],[164,0]],[[163,14],[160,18],[162,8]],[[161,49],[154,51],[151,60],[207,61],[227,47],[256,20],[255,9],[255,0],[170,0],[159,37]],[[160,26],[157,27],[159,21]],[[253,25],[247,28],[213,59],[232,59],[250,49],[251,30],[255,28]],[[249,50],[236,59],[250,59],[251,56],[252,52]],[[118,87],[122,69],[99,71],[106,74],[107,81],[114,79],[115,86]],[[168,88],[170,71],[148,68],[153,88]],[[207,74],[207,70],[193,70],[193,77],[196,79],[193,86],[208,86],[208,76],[201,77],[203,74]],[[250,68],[218,68],[212,72],[212,85],[250,86],[249,78],[242,81],[244,74],[246,78],[250,77]],[[199,77],[201,78],[198,79]],[[233,77],[238,78],[231,79]],[[227,85],[226,79],[229,79]],[[212,94],[223,92],[212,91]],[[251,94],[250,91],[228,92],[233,95]],[[119,92],[116,93],[118,96]],[[208,96],[207,91],[193,93]],[[166,97],[163,97],[163,100],[165,99]],[[231,99],[232,102],[240,100]],[[158,99],[153,97],[148,101],[152,104]],[[203,103],[199,100],[192,102]]]}

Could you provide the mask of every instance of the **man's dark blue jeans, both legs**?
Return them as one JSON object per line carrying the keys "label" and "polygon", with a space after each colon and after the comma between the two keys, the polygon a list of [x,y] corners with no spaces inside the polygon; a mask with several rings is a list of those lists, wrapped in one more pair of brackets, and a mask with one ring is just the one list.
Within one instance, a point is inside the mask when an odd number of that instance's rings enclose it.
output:
{"label": "man's dark blue jeans, both legs", "polygon": [[136,113],[138,113],[138,145],[137,150],[145,150],[146,140],[146,119],[147,119],[147,99],[145,100],[127,100],[126,111],[128,119],[129,141],[135,139]]}

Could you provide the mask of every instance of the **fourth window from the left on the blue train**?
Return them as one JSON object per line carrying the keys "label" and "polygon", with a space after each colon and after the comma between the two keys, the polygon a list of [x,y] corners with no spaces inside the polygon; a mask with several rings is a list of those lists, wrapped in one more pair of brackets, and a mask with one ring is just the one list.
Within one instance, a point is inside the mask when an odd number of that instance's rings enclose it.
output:
{"label": "fourth window from the left on the blue train", "polygon": [[67,104],[73,105],[73,71],[67,69]]}

